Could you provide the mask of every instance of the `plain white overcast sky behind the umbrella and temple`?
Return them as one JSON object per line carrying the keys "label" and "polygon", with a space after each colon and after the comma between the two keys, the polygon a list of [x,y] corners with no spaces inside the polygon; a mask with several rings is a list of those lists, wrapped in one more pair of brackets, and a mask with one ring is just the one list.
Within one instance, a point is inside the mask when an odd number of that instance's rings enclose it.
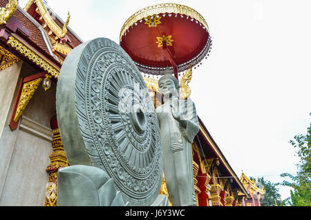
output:
{"label": "plain white overcast sky behind the umbrella and temple", "polygon": [[[20,0],[21,7],[28,0]],[[238,174],[283,181],[296,172],[288,143],[310,126],[311,1],[48,0],[84,41],[119,43],[131,14],[156,3],[181,3],[205,18],[213,46],[194,70],[191,99],[198,115]],[[289,188],[279,187],[282,199]]]}

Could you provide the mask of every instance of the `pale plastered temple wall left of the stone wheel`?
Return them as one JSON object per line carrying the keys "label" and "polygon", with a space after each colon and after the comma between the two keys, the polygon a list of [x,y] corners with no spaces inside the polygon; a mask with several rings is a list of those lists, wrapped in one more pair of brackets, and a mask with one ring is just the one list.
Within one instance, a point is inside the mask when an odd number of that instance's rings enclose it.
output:
{"label": "pale plastered temple wall left of the stone wheel", "polygon": [[[17,81],[37,72],[23,65]],[[0,206],[44,206],[48,183],[46,167],[53,151],[50,119],[56,112],[56,86],[52,83],[45,92],[40,85],[23,111],[19,127],[11,131],[8,123],[17,96],[17,84],[0,137]]]}

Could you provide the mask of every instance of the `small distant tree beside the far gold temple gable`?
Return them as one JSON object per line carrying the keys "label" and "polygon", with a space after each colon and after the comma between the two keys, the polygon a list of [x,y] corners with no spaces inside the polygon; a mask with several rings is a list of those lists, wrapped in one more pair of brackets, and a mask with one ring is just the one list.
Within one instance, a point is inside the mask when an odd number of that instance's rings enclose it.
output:
{"label": "small distant tree beside the far gold temple gable", "polygon": [[258,178],[257,183],[265,187],[265,194],[263,196],[263,200],[261,200],[261,206],[281,205],[281,195],[279,194],[279,190],[275,187],[275,183],[267,181],[263,177]]}

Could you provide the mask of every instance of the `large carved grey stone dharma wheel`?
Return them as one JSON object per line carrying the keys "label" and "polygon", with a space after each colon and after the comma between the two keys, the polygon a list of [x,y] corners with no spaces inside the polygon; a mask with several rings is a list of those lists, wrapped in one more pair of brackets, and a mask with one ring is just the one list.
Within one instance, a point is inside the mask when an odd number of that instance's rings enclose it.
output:
{"label": "large carved grey stone dharma wheel", "polygon": [[130,206],[149,206],[162,183],[158,119],[138,68],[117,43],[93,39],[64,61],[57,119],[70,165],[102,168]]}

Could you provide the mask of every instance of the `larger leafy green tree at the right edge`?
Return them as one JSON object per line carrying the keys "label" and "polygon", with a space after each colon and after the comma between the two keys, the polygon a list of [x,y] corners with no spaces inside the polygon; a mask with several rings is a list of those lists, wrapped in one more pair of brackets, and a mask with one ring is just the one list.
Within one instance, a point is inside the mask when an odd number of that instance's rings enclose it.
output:
{"label": "larger leafy green tree at the right edge", "polygon": [[281,177],[289,177],[292,180],[281,183],[283,186],[293,188],[286,202],[290,206],[311,206],[311,123],[307,134],[296,135],[294,141],[291,140],[290,143],[296,149],[300,161],[296,164],[298,172],[295,176],[289,173],[281,174]]}

